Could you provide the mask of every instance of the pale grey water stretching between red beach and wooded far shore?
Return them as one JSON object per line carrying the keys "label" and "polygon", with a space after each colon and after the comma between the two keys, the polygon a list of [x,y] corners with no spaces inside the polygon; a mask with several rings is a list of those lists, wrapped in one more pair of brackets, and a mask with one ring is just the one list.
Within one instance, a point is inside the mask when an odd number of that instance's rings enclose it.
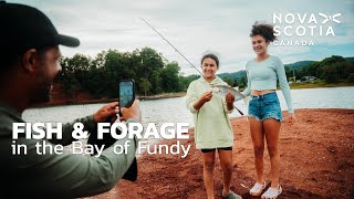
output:
{"label": "pale grey water stretching between red beach and wooded far shore", "polygon": [[[354,86],[292,90],[295,108],[354,108]],[[288,109],[281,91],[277,91],[282,111]],[[194,126],[192,114],[186,107],[185,97],[142,101],[143,123],[189,123]],[[65,105],[43,108],[30,108],[23,112],[28,122],[66,123],[75,118],[94,114],[105,104]],[[242,101],[235,104],[247,115]],[[241,116],[237,111],[230,117]]]}

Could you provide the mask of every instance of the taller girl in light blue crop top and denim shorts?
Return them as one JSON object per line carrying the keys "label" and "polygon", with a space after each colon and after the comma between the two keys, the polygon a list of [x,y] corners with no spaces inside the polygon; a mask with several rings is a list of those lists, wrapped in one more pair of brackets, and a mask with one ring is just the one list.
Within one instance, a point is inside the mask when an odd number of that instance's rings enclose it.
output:
{"label": "taller girl in light blue crop top and denim shorts", "polygon": [[270,55],[267,52],[270,42],[277,39],[273,33],[273,27],[270,24],[258,22],[253,24],[250,36],[257,56],[246,64],[248,87],[242,92],[242,94],[250,95],[252,98],[248,106],[257,171],[257,181],[250,189],[250,195],[252,196],[259,196],[266,188],[263,176],[264,140],[267,142],[270,156],[271,185],[261,196],[262,198],[277,198],[282,192],[279,184],[279,132],[283,118],[279,98],[275,93],[278,81],[287,101],[290,122],[295,122],[284,65],[279,57]]}

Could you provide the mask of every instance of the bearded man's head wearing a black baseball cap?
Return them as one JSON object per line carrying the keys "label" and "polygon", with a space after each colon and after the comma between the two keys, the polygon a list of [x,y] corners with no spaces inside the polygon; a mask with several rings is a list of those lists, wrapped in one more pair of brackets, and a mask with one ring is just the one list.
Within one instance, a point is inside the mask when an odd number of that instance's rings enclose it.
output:
{"label": "bearded man's head wearing a black baseball cap", "polygon": [[0,1],[0,82],[22,84],[15,88],[25,88],[31,104],[48,102],[61,70],[59,45],[79,46],[80,41],[59,34],[43,12],[24,4]]}

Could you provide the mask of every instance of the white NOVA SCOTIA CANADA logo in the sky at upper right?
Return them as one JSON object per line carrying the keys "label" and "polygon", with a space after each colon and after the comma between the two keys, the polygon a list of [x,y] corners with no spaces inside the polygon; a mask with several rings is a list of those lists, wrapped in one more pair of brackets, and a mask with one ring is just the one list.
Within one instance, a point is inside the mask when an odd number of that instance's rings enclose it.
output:
{"label": "white NOVA SCOTIA CANADA logo in the sky at upper right", "polygon": [[288,40],[278,40],[273,44],[314,45],[312,38],[335,36],[333,25],[341,23],[341,15],[342,13],[325,14],[321,12],[311,14],[273,13],[274,35],[288,36]]}

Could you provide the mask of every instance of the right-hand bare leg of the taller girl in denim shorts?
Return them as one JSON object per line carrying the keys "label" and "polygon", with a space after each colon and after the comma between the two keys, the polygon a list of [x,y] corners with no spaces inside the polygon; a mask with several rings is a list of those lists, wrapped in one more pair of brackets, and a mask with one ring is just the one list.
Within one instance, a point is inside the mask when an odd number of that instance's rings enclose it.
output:
{"label": "right-hand bare leg of the taller girl in denim shorts", "polygon": [[267,146],[270,156],[272,188],[279,187],[280,177],[280,154],[279,154],[279,132],[281,123],[274,118],[263,121],[263,129],[266,133]]}

